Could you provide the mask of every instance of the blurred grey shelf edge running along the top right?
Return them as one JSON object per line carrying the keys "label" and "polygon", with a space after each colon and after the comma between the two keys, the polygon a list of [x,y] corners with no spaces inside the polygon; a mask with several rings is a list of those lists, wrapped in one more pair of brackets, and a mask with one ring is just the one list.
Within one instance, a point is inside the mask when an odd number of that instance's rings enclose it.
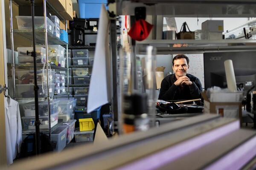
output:
{"label": "blurred grey shelf edge running along the top right", "polygon": [[133,15],[134,8],[138,6],[146,7],[147,15],[171,15],[172,17],[256,16],[255,0],[119,0],[116,3],[116,13],[117,15]]}

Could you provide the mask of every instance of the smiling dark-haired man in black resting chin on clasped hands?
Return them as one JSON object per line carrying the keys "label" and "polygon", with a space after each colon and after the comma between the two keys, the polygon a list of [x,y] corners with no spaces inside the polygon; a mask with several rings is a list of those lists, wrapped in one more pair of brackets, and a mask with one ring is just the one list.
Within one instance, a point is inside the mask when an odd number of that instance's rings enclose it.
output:
{"label": "smiling dark-haired man in black resting chin on clasped hands", "polygon": [[189,58],[179,54],[172,59],[172,65],[175,74],[170,74],[162,80],[158,99],[175,101],[202,99],[200,92],[203,88],[200,80],[187,74]]}

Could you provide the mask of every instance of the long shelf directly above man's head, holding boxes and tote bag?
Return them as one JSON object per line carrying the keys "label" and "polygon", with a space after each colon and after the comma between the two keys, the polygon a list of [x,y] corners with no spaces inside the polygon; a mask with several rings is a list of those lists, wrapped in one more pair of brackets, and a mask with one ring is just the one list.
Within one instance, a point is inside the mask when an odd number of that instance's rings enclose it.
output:
{"label": "long shelf directly above man's head, holding boxes and tote bag", "polygon": [[[186,51],[187,54],[233,50],[255,50],[256,40],[144,40],[137,42],[140,54],[146,52],[146,46],[152,45],[157,49],[157,54],[178,54]],[[175,47],[174,44],[186,44]]]}

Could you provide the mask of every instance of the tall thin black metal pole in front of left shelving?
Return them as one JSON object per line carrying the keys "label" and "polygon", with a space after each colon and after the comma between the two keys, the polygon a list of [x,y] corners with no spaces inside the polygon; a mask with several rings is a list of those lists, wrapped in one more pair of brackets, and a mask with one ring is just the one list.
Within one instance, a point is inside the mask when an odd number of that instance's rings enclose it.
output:
{"label": "tall thin black metal pole in front of left shelving", "polygon": [[33,52],[31,54],[34,57],[34,91],[35,91],[35,153],[39,155],[40,153],[40,121],[38,114],[38,84],[37,84],[37,69],[36,69],[36,50],[35,50],[35,3],[34,0],[30,0],[31,2],[31,14],[32,14],[32,30],[33,30]]}

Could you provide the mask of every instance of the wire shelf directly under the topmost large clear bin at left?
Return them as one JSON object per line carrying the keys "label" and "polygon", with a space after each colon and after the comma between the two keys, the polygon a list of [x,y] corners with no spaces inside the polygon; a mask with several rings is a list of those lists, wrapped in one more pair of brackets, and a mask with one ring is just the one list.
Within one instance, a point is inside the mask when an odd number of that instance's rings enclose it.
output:
{"label": "wire shelf directly under the topmost large clear bin at left", "polygon": [[[33,40],[32,30],[13,30],[14,34],[17,34],[20,37],[23,37],[27,40]],[[45,44],[45,30],[35,30],[35,39],[39,44]],[[48,44],[59,44],[59,45],[67,45],[67,42],[62,41],[51,32],[47,32],[47,43]]]}

